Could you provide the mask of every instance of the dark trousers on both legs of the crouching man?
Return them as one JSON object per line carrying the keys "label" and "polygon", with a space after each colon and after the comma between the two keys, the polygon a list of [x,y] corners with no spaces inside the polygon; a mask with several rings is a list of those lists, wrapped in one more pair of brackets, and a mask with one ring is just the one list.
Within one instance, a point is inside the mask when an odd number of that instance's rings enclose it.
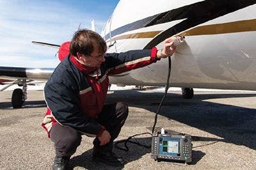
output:
{"label": "dark trousers on both legs of the crouching man", "polygon": [[[118,137],[122,126],[128,116],[128,105],[123,102],[115,104],[106,104],[96,119],[100,125],[106,127],[111,140],[108,144],[100,146],[99,139],[95,138],[93,141],[94,147],[99,151],[111,151],[113,149],[113,141]],[[81,133],[74,128],[63,127],[56,124],[51,128],[50,137],[54,142],[56,156],[70,157],[76,152],[77,147],[81,144]]]}

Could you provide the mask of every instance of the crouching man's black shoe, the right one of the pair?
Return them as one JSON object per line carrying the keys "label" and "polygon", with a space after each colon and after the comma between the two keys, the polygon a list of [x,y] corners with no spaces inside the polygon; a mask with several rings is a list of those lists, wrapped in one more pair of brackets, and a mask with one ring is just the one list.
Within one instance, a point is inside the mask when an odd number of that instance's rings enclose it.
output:
{"label": "crouching man's black shoe, the right one of the pair", "polygon": [[112,151],[93,152],[93,161],[102,162],[108,166],[120,167],[126,163],[122,157],[116,156]]}

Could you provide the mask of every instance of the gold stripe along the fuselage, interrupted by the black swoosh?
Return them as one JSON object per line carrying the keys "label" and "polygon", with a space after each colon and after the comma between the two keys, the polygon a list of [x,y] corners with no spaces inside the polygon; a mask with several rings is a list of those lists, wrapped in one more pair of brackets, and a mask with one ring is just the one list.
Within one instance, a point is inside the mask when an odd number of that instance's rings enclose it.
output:
{"label": "gold stripe along the fuselage, interrupted by the black swoosh", "polygon": [[[239,20],[235,22],[227,22],[222,24],[211,24],[207,26],[198,26],[187,31],[179,33],[180,36],[194,36],[194,35],[218,35],[227,33],[239,33],[245,31],[256,31],[256,19]],[[129,35],[120,35],[112,38],[114,40],[125,40],[131,38],[154,38],[162,31],[148,31],[142,33],[132,33]],[[110,42],[107,40],[106,42]]]}

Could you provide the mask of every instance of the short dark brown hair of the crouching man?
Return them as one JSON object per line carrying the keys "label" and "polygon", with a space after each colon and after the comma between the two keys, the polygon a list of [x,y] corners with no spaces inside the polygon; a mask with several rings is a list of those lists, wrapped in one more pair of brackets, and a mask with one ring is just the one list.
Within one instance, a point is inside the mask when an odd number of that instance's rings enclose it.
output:
{"label": "short dark brown hair of the crouching man", "polygon": [[73,56],[76,56],[77,52],[90,55],[93,52],[93,44],[99,48],[99,54],[106,52],[106,42],[98,33],[88,29],[79,29],[74,33],[69,50]]}

